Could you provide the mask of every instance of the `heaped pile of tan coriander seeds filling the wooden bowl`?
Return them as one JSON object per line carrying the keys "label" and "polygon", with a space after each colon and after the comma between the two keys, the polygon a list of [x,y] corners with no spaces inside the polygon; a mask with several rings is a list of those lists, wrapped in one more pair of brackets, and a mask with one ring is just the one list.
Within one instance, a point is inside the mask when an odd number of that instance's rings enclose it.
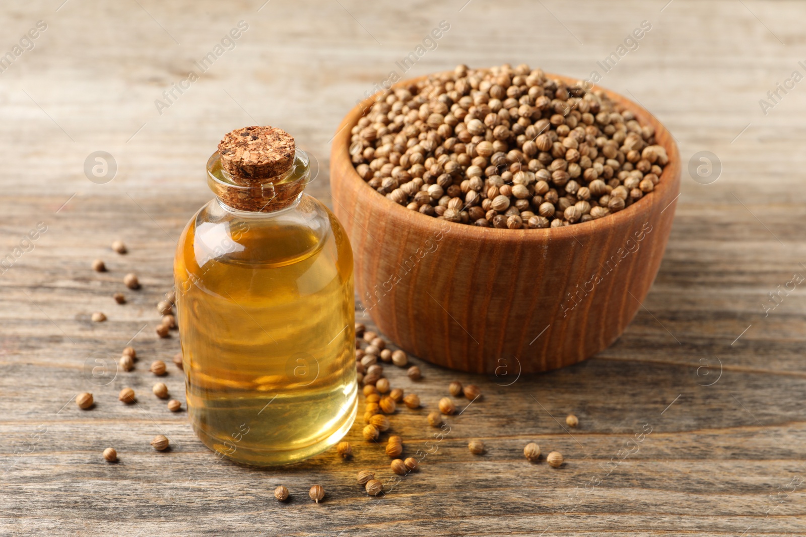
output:
{"label": "heaped pile of tan coriander seeds filling the wooden bowl", "polygon": [[351,161],[407,209],[495,228],[606,217],[659,183],[654,128],[583,83],[521,64],[435,74],[380,93],[353,127]]}

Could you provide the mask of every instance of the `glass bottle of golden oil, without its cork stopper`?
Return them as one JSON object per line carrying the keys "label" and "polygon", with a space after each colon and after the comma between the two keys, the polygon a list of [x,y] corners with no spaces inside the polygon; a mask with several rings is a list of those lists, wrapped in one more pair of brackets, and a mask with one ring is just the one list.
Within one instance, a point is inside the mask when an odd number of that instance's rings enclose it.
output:
{"label": "glass bottle of golden oil, without its cork stopper", "polygon": [[174,261],[189,419],[219,456],[301,461],[355,419],[351,246],[303,192],[304,151],[259,183],[221,160],[216,151],[207,162],[216,197],[190,219]]}

